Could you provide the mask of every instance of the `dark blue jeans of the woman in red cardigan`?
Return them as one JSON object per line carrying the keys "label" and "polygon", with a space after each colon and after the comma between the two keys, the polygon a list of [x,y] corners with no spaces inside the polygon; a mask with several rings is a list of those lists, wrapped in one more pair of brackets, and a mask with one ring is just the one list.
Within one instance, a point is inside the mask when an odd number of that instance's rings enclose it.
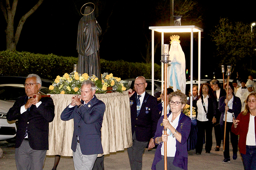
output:
{"label": "dark blue jeans of the woman in red cardigan", "polygon": [[246,154],[241,153],[245,170],[256,170],[256,146],[246,145]]}

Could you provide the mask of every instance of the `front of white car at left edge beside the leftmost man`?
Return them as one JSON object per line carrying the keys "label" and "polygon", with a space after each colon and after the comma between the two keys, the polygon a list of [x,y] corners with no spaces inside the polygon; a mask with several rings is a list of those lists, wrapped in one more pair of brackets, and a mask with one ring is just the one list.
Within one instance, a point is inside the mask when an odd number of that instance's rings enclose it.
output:
{"label": "front of white car at left edge beside the leftmost man", "polygon": [[6,113],[13,106],[12,102],[0,100],[0,140],[15,143],[16,124],[15,121],[7,121]]}

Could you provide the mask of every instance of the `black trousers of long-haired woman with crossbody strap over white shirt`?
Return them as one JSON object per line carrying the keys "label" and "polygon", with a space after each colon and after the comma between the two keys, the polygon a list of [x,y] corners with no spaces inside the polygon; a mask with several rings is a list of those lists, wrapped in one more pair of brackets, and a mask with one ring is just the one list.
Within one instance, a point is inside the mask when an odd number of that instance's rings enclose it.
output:
{"label": "black trousers of long-haired woman with crossbody strap over white shirt", "polygon": [[204,145],[205,137],[205,151],[210,152],[212,150],[212,121],[201,122],[196,120],[197,123],[197,141],[196,141],[196,153],[201,153]]}

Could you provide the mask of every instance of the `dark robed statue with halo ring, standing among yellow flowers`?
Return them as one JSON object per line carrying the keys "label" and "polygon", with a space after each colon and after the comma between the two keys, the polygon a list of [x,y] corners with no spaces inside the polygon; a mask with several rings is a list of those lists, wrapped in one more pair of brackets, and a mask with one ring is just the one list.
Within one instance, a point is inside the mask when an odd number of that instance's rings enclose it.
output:
{"label": "dark robed statue with halo ring, standing among yellow flowers", "polygon": [[[89,14],[89,15],[88,15]],[[99,38],[101,28],[94,17],[94,9],[87,6],[80,19],[77,33],[76,49],[78,52],[78,73],[94,74],[101,80]]]}

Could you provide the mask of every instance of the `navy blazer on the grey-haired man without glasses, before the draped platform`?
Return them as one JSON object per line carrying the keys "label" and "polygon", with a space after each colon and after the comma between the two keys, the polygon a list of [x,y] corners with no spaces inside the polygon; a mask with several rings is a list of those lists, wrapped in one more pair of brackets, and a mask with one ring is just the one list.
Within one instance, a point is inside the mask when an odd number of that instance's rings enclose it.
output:
{"label": "navy blazer on the grey-haired man without glasses, before the draped platform", "polygon": [[[84,104],[84,101],[81,101]],[[74,119],[74,133],[71,149],[76,152],[77,140],[83,155],[103,153],[101,145],[101,127],[106,106],[103,101],[94,95],[86,106],[66,107],[60,115],[60,119],[68,121]]]}

